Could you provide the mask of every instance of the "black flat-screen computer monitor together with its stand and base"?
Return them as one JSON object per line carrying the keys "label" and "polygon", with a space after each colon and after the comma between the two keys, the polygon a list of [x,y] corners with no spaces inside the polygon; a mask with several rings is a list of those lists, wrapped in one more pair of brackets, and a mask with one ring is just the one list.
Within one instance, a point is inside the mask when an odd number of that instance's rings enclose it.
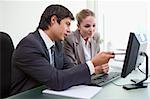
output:
{"label": "black flat-screen computer monitor together with its stand and base", "polygon": [[130,33],[121,77],[125,78],[129,73],[135,70],[137,66],[141,65],[144,60],[144,56],[146,57],[146,77],[141,81],[134,81],[135,84],[124,85],[124,89],[130,90],[147,87],[147,85],[143,84],[143,82],[148,78],[148,56],[146,54],[146,48],[146,35]]}

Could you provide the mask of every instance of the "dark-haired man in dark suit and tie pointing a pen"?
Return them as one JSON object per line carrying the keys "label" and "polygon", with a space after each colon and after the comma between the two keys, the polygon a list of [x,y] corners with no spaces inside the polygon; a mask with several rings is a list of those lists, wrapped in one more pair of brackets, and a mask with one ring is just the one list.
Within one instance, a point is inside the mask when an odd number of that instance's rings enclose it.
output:
{"label": "dark-haired man in dark suit and tie pointing a pen", "polygon": [[62,41],[70,32],[71,20],[74,20],[72,13],[62,5],[45,9],[37,30],[23,38],[13,53],[11,95],[43,84],[53,90],[90,84],[94,66],[114,57],[110,52],[103,52],[77,66],[69,62],[63,54]]}

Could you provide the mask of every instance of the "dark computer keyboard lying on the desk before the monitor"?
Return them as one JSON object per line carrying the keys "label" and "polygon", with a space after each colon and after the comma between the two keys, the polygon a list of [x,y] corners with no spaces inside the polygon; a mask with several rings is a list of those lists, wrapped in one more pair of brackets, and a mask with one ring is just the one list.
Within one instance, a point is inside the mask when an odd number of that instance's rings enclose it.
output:
{"label": "dark computer keyboard lying on the desk before the monitor", "polygon": [[104,86],[118,78],[120,78],[121,73],[119,72],[109,72],[106,74],[94,75],[92,77],[92,84],[96,86]]}

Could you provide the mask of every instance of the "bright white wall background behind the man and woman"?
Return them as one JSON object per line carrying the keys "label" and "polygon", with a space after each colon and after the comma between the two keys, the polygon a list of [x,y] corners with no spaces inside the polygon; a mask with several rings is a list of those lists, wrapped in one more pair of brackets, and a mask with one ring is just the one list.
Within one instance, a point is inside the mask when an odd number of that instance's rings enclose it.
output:
{"label": "bright white wall background behind the man and woman", "polygon": [[[95,2],[94,2],[95,1]],[[35,31],[40,16],[50,4],[62,4],[74,16],[83,8],[96,13],[97,31],[104,43],[101,48],[125,48],[129,32],[148,35],[150,41],[150,2],[143,0],[0,0],[0,31],[10,34],[14,45]],[[71,30],[76,29],[76,21]],[[118,39],[116,39],[116,37]]]}

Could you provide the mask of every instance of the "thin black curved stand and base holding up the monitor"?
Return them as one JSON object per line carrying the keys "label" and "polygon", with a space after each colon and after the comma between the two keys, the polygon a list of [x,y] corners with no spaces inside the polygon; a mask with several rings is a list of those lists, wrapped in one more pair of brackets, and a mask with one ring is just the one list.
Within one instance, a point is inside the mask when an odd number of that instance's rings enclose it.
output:
{"label": "thin black curved stand and base holding up the monitor", "polygon": [[143,83],[143,82],[148,79],[148,56],[147,56],[147,54],[145,52],[142,52],[140,55],[146,57],[146,74],[145,74],[146,77],[143,80],[141,80],[141,81],[131,80],[135,84],[126,84],[126,85],[123,85],[123,88],[126,89],[126,90],[138,89],[138,88],[147,88],[147,84]]}

